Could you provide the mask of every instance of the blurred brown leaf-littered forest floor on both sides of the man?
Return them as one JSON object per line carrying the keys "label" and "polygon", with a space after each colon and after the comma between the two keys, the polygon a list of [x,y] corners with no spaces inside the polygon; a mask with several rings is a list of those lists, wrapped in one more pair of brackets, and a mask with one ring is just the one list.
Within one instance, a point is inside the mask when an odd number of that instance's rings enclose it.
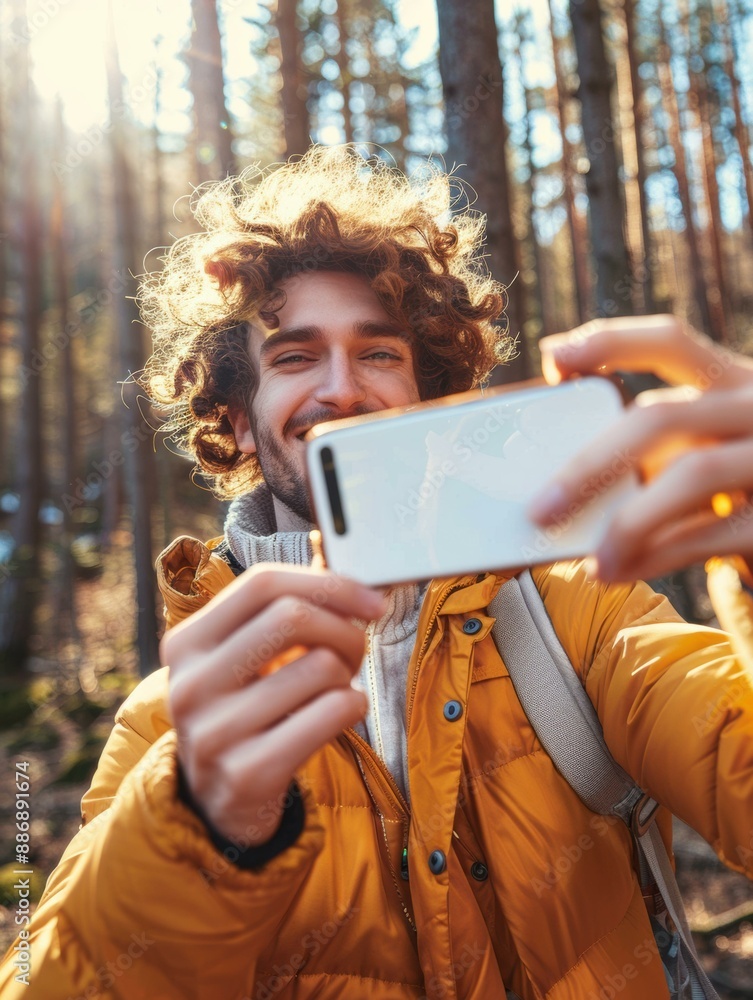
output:
{"label": "blurred brown leaf-littered forest floor on both sides of the man", "polygon": [[[207,515],[197,525],[216,534]],[[34,898],[79,826],[79,804],[112,727],[115,711],[138,683],[132,645],[131,536],[121,530],[101,573],[76,587],[78,636],[61,634],[56,604],[41,607],[40,634],[32,671],[25,681],[0,681],[0,748],[7,761],[0,775],[0,951],[17,928],[13,862],[15,824],[13,772],[29,761],[31,864]],[[694,586],[703,574],[693,574]],[[696,605],[707,607],[698,592]],[[49,604],[49,606],[48,606]],[[701,617],[706,617],[701,614]],[[724,868],[713,851],[684,824],[676,823],[680,886],[696,943],[723,1000],[753,997],[753,886]],[[32,973],[33,975],[33,973]]]}

